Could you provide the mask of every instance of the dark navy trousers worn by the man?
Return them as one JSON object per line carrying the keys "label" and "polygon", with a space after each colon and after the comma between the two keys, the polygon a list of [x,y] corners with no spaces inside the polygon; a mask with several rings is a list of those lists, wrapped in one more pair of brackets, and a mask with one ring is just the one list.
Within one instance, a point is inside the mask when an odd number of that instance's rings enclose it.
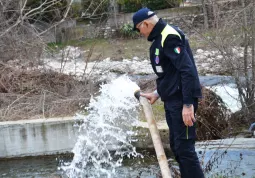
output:
{"label": "dark navy trousers worn by the man", "polygon": [[[194,110],[198,101],[194,99]],[[182,119],[183,102],[181,97],[164,102],[166,120],[170,130],[170,147],[179,163],[182,178],[204,178],[197,154],[195,152],[195,126],[185,126]]]}

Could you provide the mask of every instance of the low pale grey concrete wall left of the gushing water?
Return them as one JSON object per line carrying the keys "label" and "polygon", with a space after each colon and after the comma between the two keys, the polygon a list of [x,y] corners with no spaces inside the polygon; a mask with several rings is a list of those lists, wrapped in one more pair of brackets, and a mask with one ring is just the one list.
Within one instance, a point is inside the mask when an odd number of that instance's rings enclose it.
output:
{"label": "low pale grey concrete wall left of the gushing water", "polygon": [[0,158],[70,152],[77,128],[72,118],[0,122]]}

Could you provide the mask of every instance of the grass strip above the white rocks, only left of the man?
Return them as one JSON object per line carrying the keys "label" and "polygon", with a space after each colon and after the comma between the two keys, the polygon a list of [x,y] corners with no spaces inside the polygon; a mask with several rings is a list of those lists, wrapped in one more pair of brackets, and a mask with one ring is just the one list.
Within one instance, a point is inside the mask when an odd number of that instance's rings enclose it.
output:
{"label": "grass strip above the white rocks, only left of the man", "polygon": [[139,58],[149,58],[149,47],[151,43],[144,38],[139,39],[85,39],[72,40],[67,43],[49,43],[50,50],[57,51],[66,46],[80,47],[84,51],[93,48],[91,61],[105,59],[111,60],[132,59],[135,56]]}

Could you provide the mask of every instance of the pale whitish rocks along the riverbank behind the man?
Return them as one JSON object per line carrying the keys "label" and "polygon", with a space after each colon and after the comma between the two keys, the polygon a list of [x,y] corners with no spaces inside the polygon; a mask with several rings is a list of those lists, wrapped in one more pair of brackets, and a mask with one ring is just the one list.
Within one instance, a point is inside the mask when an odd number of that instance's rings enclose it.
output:
{"label": "pale whitish rocks along the riverbank behind the man", "polygon": [[[233,59],[243,56],[239,48],[233,48]],[[106,73],[118,74],[153,74],[150,60],[146,57],[132,56],[131,58],[119,59],[107,57],[97,61],[84,61],[88,51],[78,47],[67,46],[54,56],[47,56],[43,59],[48,68],[61,71],[66,74],[83,75],[105,75]],[[224,75],[229,74],[226,60],[220,51],[197,49],[194,52],[199,75]]]}

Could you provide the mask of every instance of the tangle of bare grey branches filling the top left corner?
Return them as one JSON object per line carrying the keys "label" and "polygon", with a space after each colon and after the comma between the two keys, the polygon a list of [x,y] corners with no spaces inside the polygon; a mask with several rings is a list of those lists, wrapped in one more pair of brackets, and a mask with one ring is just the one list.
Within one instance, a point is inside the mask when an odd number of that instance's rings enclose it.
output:
{"label": "tangle of bare grey branches filling the top left corner", "polygon": [[[0,61],[13,59],[39,59],[44,45],[43,35],[64,22],[73,0],[44,0],[36,6],[28,6],[29,0],[0,0]],[[38,16],[56,11],[66,2],[59,19],[49,19],[47,26]],[[30,60],[30,61],[31,61]],[[24,62],[24,61],[23,61]]]}

